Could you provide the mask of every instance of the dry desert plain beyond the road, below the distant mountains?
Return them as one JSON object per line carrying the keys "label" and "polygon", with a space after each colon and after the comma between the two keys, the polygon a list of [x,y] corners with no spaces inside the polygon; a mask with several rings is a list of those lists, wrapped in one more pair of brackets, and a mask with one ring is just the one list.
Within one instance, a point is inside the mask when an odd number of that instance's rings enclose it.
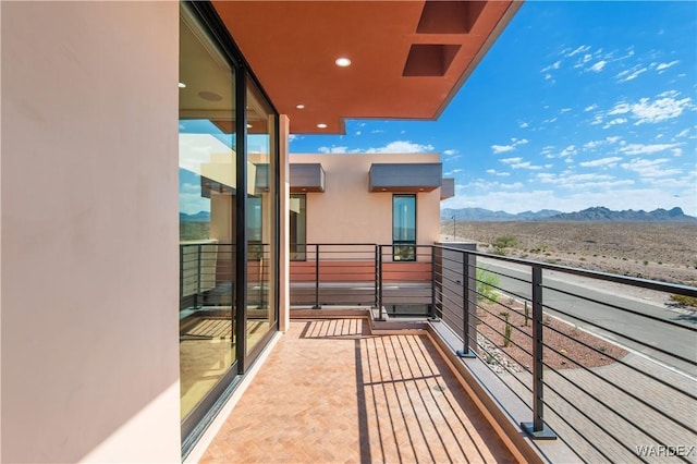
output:
{"label": "dry desert plain beyond the road, below the distant mountains", "polygon": [[[508,256],[582,269],[695,285],[697,224],[681,222],[457,222],[457,241],[493,252],[497,239],[515,246]],[[453,223],[441,224],[443,242]]]}

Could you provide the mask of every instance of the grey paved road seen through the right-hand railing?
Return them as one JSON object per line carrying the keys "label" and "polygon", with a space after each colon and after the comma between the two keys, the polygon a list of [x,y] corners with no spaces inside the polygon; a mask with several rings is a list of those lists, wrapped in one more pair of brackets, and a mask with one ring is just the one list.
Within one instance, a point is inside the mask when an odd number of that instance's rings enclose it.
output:
{"label": "grey paved road seen through the right-hand railing", "polygon": [[[501,282],[499,286],[511,289],[511,291],[525,297],[530,296],[529,284],[513,279],[514,277],[529,281],[529,268],[509,262],[497,262],[487,258],[478,258],[477,260],[478,266],[484,266],[492,272],[500,273],[499,277]],[[545,305],[549,308],[555,308],[560,312],[566,313],[572,317],[546,308],[547,313],[572,321],[579,328],[589,332],[600,334],[603,338],[616,342],[617,344],[657,359],[662,364],[697,377],[697,366],[676,359],[673,356],[663,354],[651,347],[657,346],[661,350],[668,351],[669,353],[675,353],[683,356],[693,363],[697,363],[697,337],[695,335],[695,332],[640,316],[650,315],[662,320],[676,321],[684,327],[694,328],[697,326],[696,315],[689,315],[684,312],[643,302],[621,293],[609,293],[607,291],[598,290],[597,288],[591,288],[583,283],[584,279],[579,279],[576,276],[561,276],[560,272],[550,273],[550,271],[543,271],[542,276],[545,286],[583,295],[584,297],[601,301],[622,308],[627,308],[638,313],[639,315],[588,302],[579,297],[565,295],[554,290],[545,289],[542,296]],[[579,321],[574,319],[573,316],[586,319],[609,330],[599,329],[594,327],[591,323]],[[621,335],[612,333],[611,331],[617,332]],[[625,337],[644,341],[649,346],[633,342]]]}

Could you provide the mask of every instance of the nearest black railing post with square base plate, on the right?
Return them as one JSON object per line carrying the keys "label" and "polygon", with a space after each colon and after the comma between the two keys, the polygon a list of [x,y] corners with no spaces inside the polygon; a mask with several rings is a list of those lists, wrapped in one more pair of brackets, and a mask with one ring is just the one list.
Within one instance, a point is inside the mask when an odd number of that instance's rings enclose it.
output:
{"label": "nearest black railing post with square base plate, on the right", "polygon": [[533,422],[521,423],[521,427],[533,439],[557,438],[543,420],[545,382],[542,379],[542,268],[533,266]]}

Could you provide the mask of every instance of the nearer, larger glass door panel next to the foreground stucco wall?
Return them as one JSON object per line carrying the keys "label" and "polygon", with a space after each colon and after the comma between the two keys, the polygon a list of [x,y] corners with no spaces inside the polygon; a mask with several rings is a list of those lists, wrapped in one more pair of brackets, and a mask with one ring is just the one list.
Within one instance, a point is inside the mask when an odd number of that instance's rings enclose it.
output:
{"label": "nearer, larger glass door panel next to the foreground stucco wall", "polygon": [[235,75],[184,8],[180,19],[181,417],[233,368]]}

